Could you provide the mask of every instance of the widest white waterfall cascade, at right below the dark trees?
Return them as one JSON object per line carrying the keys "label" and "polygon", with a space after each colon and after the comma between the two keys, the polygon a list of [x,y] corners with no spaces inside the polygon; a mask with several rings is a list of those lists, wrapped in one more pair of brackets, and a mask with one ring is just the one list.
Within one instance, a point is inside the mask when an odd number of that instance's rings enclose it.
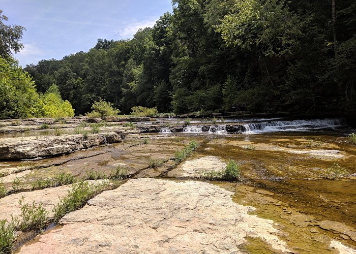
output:
{"label": "widest white waterfall cascade, at right below the dark trees", "polygon": [[291,121],[261,121],[244,124],[244,133],[263,132],[305,132],[316,129],[337,128],[344,126],[342,119],[327,118],[315,120],[291,120]]}

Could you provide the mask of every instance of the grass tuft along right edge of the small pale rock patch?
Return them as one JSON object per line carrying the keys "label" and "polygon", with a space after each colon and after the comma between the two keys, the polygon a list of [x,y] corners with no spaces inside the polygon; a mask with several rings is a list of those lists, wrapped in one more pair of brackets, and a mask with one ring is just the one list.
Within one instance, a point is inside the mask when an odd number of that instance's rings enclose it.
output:
{"label": "grass tuft along right edge of the small pale rock patch", "polygon": [[229,160],[226,168],[222,171],[203,171],[199,173],[198,178],[207,180],[222,180],[232,182],[240,177],[240,166],[234,161]]}

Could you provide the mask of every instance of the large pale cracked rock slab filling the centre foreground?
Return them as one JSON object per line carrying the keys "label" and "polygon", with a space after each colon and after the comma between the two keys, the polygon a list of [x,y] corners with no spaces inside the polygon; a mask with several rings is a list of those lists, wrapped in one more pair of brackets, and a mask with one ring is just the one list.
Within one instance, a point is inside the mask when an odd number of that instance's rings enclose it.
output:
{"label": "large pale cracked rock slab filling the centre foreground", "polygon": [[19,253],[234,253],[246,237],[293,252],[273,221],[249,215],[216,185],[131,179],[69,213],[61,227],[38,236]]}

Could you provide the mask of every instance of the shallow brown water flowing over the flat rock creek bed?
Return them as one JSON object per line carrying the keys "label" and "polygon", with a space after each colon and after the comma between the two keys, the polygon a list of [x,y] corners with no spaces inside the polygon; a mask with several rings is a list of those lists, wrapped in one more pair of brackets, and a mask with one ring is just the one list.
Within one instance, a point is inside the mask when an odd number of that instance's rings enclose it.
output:
{"label": "shallow brown water flowing over the flat rock creek bed", "polygon": [[[143,144],[143,137],[150,143]],[[147,134],[131,135],[114,145],[78,151],[69,155],[33,162],[1,162],[0,169],[50,166],[32,169],[23,177],[27,182],[61,172],[83,176],[85,171],[109,173],[116,165],[128,167],[135,177],[162,177],[174,164],[169,158],[191,139],[199,143],[192,160],[207,155],[222,161],[232,159],[241,165],[241,181],[216,182],[234,190],[234,201],[257,208],[260,217],[273,219],[281,226],[289,246],[300,253],[327,252],[330,238],[356,248],[350,232],[340,225],[325,230],[321,221],[336,221],[356,229],[356,146],[338,132],[263,133],[239,135]],[[158,169],[147,168],[150,158],[164,158]],[[338,164],[347,171],[341,179],[325,179],[328,170]],[[11,182],[7,183],[10,186]],[[277,227],[277,226],[276,226]],[[324,227],[325,228],[325,227]],[[315,233],[317,231],[318,233]],[[356,230],[355,230],[356,232]],[[244,250],[271,253],[258,239],[249,239]]]}

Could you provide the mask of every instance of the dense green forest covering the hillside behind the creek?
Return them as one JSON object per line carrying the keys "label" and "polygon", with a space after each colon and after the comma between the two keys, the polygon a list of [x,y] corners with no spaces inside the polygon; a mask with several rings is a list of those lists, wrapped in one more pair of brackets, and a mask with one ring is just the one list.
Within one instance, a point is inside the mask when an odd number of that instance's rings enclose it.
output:
{"label": "dense green forest covering the hillside behind the creek", "polygon": [[[135,106],[176,114],[356,113],[354,0],[173,0],[172,6],[133,39],[98,39],[88,52],[43,59],[19,75],[40,104],[57,94],[76,115],[99,100],[125,114]],[[1,51],[2,69],[19,68]],[[6,98],[1,75],[0,117],[45,115],[43,106],[40,113],[11,114],[20,102]]]}

